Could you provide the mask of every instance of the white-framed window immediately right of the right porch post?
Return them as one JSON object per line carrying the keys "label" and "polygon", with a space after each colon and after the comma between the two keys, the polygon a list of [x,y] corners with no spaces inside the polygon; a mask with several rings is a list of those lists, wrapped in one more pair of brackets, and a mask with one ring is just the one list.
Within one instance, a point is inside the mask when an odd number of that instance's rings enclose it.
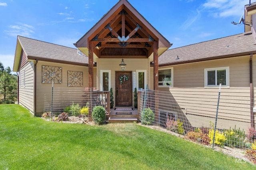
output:
{"label": "white-framed window immediately right of the right porch post", "polygon": [[158,86],[173,87],[173,67],[158,70]]}

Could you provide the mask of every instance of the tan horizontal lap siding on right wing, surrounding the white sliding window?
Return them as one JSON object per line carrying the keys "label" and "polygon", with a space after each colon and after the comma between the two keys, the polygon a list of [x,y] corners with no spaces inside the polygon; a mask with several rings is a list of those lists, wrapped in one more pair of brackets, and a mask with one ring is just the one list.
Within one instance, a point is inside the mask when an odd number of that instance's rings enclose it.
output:
{"label": "tan horizontal lap siding on right wing, surrounding the white sliding window", "polygon": [[[204,88],[204,69],[229,66],[230,88],[221,89],[218,117],[250,123],[249,59],[238,57],[173,66],[174,88],[160,90],[170,91],[187,114],[215,117],[219,89]],[[256,66],[254,77],[255,70]]]}

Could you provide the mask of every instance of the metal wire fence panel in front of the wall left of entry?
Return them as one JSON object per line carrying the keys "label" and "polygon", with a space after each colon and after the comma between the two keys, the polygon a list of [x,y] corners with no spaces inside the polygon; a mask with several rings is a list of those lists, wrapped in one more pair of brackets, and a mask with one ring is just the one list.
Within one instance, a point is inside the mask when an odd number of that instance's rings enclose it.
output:
{"label": "metal wire fence panel in front of the wall left of entry", "polygon": [[96,88],[53,88],[51,103],[45,102],[44,112],[49,111],[54,116],[65,112],[91,117],[95,106],[103,106],[107,111],[108,96],[108,91],[98,91]]}

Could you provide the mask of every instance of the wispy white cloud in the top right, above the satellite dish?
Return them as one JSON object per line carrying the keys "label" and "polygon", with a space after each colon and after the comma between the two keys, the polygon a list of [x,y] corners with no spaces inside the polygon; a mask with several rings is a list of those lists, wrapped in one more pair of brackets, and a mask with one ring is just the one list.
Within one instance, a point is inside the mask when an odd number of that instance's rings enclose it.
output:
{"label": "wispy white cloud in the top right, above the satellite dish", "polygon": [[[252,2],[255,2],[252,1]],[[207,0],[202,6],[215,18],[228,16],[241,16],[244,13],[244,5],[248,0]]]}

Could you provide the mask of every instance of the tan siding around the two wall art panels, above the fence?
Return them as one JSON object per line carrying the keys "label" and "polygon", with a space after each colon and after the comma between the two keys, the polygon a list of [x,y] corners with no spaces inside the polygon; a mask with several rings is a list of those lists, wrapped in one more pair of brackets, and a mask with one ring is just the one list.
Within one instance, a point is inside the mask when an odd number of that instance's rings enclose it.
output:
{"label": "tan siding around the two wall art panels, above the fence", "polygon": [[37,84],[36,113],[37,115],[42,114],[42,112],[44,111],[44,105],[50,106],[50,103],[51,103],[52,84],[42,83],[42,65],[62,67],[62,84],[54,84],[54,88],[81,88],[81,87],[68,87],[68,71],[83,72],[83,87],[88,87],[88,67],[39,61],[36,66],[37,68],[37,77],[36,77],[36,84]]}

